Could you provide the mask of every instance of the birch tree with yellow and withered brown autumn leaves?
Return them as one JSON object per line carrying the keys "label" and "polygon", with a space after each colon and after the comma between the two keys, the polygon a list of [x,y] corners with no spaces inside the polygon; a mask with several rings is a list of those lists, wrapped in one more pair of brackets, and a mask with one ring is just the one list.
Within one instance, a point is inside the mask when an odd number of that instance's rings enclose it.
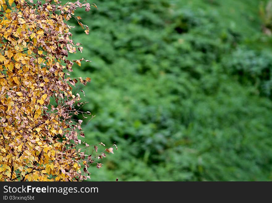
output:
{"label": "birch tree with yellow and withered brown autumn leaves", "polygon": [[[90,78],[70,78],[74,63],[67,56],[83,48],[73,42],[67,21],[77,20],[88,34],[74,11],[91,6],[96,7],[86,1],[0,0],[0,180],[86,180],[91,163],[102,166],[95,158],[113,153],[97,153],[98,145],[81,142],[83,121],[74,120],[86,114],[78,110],[83,102],[72,86]],[[80,66],[82,60],[74,62]],[[82,144],[94,153],[86,154]]]}

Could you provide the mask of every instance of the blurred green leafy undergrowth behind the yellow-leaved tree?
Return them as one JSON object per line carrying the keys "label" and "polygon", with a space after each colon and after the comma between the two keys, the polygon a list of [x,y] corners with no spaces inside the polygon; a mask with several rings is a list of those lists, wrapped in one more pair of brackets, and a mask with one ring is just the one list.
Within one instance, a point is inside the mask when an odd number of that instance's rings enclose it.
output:
{"label": "blurred green leafy undergrowth behind the yellow-leaved tree", "polygon": [[270,1],[94,3],[72,77],[91,78],[85,141],[118,150],[92,181],[272,180]]}

